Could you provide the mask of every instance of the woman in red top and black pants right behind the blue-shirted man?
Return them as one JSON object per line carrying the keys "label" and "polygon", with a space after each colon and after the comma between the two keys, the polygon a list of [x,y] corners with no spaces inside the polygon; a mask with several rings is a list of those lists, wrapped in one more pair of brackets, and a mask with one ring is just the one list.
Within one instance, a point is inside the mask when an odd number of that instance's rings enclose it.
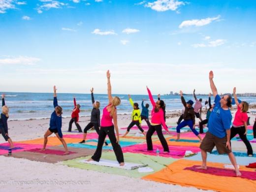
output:
{"label": "woman in red top and black pants right behind the blue-shirted man", "polygon": [[239,103],[238,100],[237,100],[235,92],[236,92],[236,88],[234,87],[233,95],[234,95],[234,98],[235,98],[235,103],[237,105],[237,111],[235,113],[235,119],[234,119],[234,122],[233,122],[233,126],[230,129],[231,130],[230,140],[236,134],[239,134],[240,138],[242,139],[242,141],[246,145],[247,155],[252,157],[253,156],[253,148],[252,148],[250,142],[248,141],[248,139],[246,137],[247,119],[248,119],[247,111],[248,111],[248,108],[249,108],[249,104],[246,101],[242,101],[241,103]]}

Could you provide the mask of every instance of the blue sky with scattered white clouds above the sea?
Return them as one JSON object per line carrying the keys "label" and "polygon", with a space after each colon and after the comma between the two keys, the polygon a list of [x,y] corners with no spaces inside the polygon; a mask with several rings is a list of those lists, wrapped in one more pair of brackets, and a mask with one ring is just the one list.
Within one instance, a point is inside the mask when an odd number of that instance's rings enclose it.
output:
{"label": "blue sky with scattered white clouds above the sea", "polygon": [[256,93],[255,0],[0,0],[0,92]]}

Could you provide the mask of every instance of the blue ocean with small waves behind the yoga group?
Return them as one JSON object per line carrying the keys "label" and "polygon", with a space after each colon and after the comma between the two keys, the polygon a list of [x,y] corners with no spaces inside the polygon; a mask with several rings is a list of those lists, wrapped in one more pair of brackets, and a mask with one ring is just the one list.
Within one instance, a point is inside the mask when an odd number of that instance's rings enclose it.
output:
{"label": "blue ocean with small waves behind the yoga group", "polygon": [[[2,93],[2,92],[1,92]],[[8,93],[5,92],[5,104],[9,107],[10,120],[27,120],[27,119],[42,119],[50,118],[54,111],[53,94],[52,93]],[[73,96],[76,97],[77,104],[81,105],[80,116],[90,116],[92,111],[91,94],[58,94],[58,104],[63,108],[63,117],[70,117],[71,111],[74,107]],[[113,95],[121,98],[121,104],[117,107],[118,114],[130,114],[132,107],[128,100],[128,95]],[[108,97],[106,94],[94,94],[95,100],[100,102],[100,110],[108,104]],[[192,99],[193,96],[184,96],[186,100]],[[152,109],[149,97],[147,95],[132,95],[133,102],[139,103],[141,108],[142,99],[146,99],[144,104],[149,103],[149,109]],[[203,107],[208,96],[198,96],[203,99]],[[157,96],[154,96],[157,100]],[[183,105],[180,96],[161,96],[161,99],[166,103],[166,111],[181,110]],[[256,97],[240,97],[250,103],[256,103]],[[212,97],[213,102],[213,97]]]}

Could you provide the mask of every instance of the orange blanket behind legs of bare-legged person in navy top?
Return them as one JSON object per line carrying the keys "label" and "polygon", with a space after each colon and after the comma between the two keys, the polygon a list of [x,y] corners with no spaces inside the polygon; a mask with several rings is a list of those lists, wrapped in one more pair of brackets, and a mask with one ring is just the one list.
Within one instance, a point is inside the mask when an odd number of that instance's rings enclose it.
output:
{"label": "orange blanket behind legs of bare-legged person in navy top", "polygon": [[[64,138],[66,143],[78,143],[81,139],[77,138]],[[26,141],[19,141],[19,143],[26,143],[26,144],[43,144],[44,138],[39,139],[32,139]],[[48,137],[47,145],[62,145],[62,142],[57,137]]]}

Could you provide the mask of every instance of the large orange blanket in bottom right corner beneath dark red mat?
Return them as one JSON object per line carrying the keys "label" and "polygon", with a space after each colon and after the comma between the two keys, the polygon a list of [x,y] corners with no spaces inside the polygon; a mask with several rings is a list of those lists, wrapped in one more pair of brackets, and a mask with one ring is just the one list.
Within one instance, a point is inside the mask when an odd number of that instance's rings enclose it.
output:
{"label": "large orange blanket in bottom right corner beneath dark red mat", "polygon": [[[184,170],[186,167],[201,165],[201,163],[201,161],[177,160],[169,164],[166,168],[144,176],[142,179],[219,192],[254,192],[256,190],[256,181],[253,180],[240,177],[221,177]],[[223,168],[222,163],[208,162],[207,165]],[[250,171],[250,168],[241,166],[240,170]]]}

